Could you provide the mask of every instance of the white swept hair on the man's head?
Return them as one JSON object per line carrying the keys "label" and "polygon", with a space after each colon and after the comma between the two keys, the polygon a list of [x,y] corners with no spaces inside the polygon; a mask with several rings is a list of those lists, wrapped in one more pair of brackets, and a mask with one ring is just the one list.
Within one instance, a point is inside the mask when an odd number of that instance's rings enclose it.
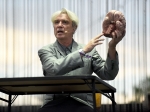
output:
{"label": "white swept hair on the man's head", "polygon": [[76,14],[73,13],[73,12],[71,12],[71,11],[68,10],[68,9],[65,9],[65,8],[62,8],[62,10],[57,11],[57,12],[55,12],[55,13],[52,15],[52,17],[51,17],[52,23],[54,23],[54,20],[56,19],[56,17],[57,17],[59,14],[61,14],[61,13],[66,13],[66,14],[69,16],[69,18],[72,20],[73,25],[78,26],[78,24],[79,24],[79,19],[78,19],[78,17],[76,16]]}

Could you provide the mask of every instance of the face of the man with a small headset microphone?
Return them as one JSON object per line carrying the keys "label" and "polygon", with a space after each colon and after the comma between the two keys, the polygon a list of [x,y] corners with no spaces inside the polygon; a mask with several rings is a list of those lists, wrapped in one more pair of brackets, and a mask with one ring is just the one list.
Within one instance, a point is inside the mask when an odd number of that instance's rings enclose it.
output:
{"label": "face of the man with a small headset microphone", "polygon": [[54,34],[57,39],[67,39],[72,38],[73,33],[76,30],[76,27],[72,25],[71,19],[67,14],[61,13],[56,17],[53,23],[54,26]]}

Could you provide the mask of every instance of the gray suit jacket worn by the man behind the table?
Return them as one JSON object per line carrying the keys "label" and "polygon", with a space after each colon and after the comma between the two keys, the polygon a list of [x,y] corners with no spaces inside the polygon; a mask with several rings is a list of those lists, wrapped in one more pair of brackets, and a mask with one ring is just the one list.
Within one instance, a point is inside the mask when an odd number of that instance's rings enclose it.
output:
{"label": "gray suit jacket worn by the man behind the table", "polygon": [[[57,41],[41,48],[38,51],[38,55],[42,63],[44,75],[90,76],[95,72],[103,80],[113,80],[119,70],[118,55],[116,55],[115,60],[111,60],[107,56],[106,61],[104,61],[96,49],[93,49],[88,53],[92,58],[81,58],[78,50],[82,49],[83,46],[84,45],[73,41],[72,53],[67,56],[64,54],[64,51],[60,49]],[[92,105],[91,94],[73,94],[71,96]],[[45,103],[52,100],[52,98],[53,95],[47,95]]]}

